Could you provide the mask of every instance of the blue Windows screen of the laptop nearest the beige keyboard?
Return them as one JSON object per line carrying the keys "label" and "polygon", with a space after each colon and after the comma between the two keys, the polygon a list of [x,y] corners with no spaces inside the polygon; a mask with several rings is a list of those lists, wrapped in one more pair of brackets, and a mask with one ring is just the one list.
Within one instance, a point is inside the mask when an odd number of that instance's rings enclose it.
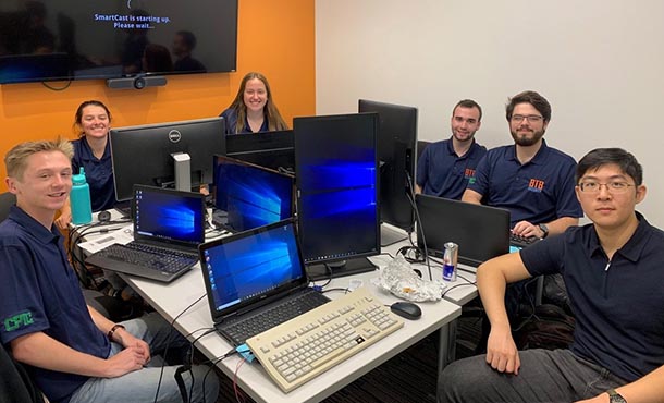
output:
{"label": "blue Windows screen of the laptop nearest the beige keyboard", "polygon": [[199,246],[214,321],[254,303],[308,285],[293,220]]}

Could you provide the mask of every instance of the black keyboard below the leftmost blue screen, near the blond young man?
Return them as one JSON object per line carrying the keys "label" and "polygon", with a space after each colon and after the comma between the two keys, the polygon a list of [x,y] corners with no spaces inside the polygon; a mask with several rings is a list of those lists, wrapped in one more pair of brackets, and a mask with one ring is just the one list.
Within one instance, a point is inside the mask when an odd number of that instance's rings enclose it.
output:
{"label": "black keyboard below the leftmost blue screen, near the blond young man", "polygon": [[113,244],[95,255],[169,273],[187,269],[198,261],[198,255],[194,253],[135,242],[126,245]]}

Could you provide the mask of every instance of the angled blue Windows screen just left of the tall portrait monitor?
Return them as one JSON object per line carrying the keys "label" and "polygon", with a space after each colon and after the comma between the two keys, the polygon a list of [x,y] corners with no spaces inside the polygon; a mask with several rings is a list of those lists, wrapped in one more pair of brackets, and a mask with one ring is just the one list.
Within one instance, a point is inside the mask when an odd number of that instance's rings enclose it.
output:
{"label": "angled blue Windows screen just left of the tall portrait monitor", "polygon": [[217,156],[213,187],[217,207],[214,219],[233,232],[293,217],[293,175]]}

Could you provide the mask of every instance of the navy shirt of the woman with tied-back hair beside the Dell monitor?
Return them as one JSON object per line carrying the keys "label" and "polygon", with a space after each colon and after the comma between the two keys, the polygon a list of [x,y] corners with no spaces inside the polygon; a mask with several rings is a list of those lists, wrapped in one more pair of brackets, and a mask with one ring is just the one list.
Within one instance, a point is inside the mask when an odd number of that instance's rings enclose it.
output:
{"label": "navy shirt of the woman with tied-back hair beside the Dell monitor", "polygon": [[101,159],[95,157],[85,137],[72,142],[74,158],[72,170],[78,173],[81,167],[85,170],[85,179],[90,186],[93,211],[108,210],[115,205],[115,187],[113,184],[113,163],[111,161],[111,142],[106,142]]}

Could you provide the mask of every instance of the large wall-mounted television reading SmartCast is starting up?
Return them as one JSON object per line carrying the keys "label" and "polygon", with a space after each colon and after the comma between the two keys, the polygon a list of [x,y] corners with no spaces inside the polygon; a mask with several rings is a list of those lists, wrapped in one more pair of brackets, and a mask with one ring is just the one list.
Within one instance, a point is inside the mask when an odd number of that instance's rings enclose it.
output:
{"label": "large wall-mounted television reading SmartCast is starting up", "polygon": [[237,0],[3,0],[0,84],[236,69]]}

